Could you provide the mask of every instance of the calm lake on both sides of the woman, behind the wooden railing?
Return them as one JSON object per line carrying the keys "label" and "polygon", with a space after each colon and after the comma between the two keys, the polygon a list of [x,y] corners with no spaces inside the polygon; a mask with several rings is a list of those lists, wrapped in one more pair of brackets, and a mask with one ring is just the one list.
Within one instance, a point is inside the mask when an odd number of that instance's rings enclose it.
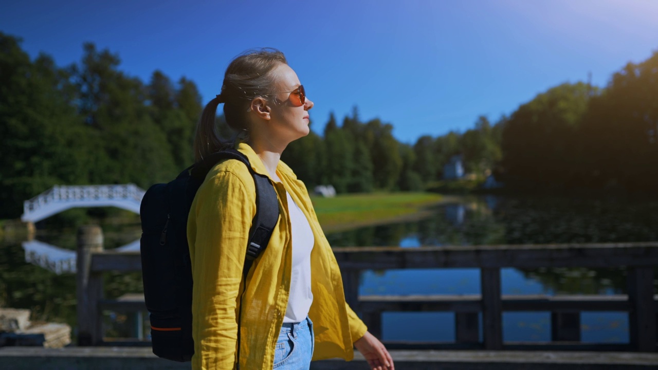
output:
{"label": "calm lake on both sides of the woman, behind the wooden railing", "polygon": [[[131,218],[132,217],[132,218]],[[139,224],[103,225],[107,249],[139,238]],[[658,201],[477,196],[451,198],[420,221],[370,226],[328,234],[332,246],[469,246],[643,242],[658,240]],[[74,250],[75,230],[39,230],[40,242],[57,246],[60,259]],[[0,244],[0,304],[31,308],[33,319],[75,327],[74,275],[57,275],[57,263],[24,250],[20,241]],[[63,257],[64,256],[64,257]],[[28,262],[26,261],[26,257]],[[55,259],[56,257],[53,257]],[[47,268],[41,267],[45,266]],[[60,263],[61,265],[61,263]],[[624,269],[503,269],[503,294],[623,294]],[[658,274],[656,275],[658,277]],[[360,294],[478,294],[477,269],[363,271]],[[658,286],[658,284],[655,284]],[[107,273],[108,298],[141,292],[139,273]],[[384,340],[453,341],[452,313],[384,313]],[[130,319],[107,312],[109,336],[126,336]],[[620,312],[582,313],[583,342],[628,342],[628,317]],[[550,340],[550,313],[503,313],[503,340]]]}

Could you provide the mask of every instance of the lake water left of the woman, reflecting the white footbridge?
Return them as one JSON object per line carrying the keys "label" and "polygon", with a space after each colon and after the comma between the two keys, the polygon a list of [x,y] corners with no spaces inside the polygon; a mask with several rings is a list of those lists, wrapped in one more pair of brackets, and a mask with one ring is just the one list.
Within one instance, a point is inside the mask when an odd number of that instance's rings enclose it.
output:
{"label": "lake water left of the woman, reflecting the white footbridge", "polygon": [[[101,224],[106,250],[139,250],[141,228],[133,215]],[[76,228],[39,229],[38,240],[0,240],[0,306],[32,310],[32,321],[63,322],[76,340]],[[141,273],[103,273],[105,298],[143,292]],[[108,336],[128,337],[118,325],[121,317],[104,312]],[[129,328],[130,329],[130,328]]]}

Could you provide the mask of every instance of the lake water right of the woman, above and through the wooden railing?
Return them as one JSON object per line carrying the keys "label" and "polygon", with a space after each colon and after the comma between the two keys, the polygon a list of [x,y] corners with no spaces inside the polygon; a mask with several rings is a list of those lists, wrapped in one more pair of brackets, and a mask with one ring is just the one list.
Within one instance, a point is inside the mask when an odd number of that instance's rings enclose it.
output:
{"label": "lake water right of the woman, above and through the wooden railing", "polygon": [[[657,224],[658,201],[484,196],[441,205],[420,221],[359,228],[327,237],[332,246],[403,248],[643,242],[658,240]],[[501,269],[501,288],[503,294],[624,294],[625,275],[622,267]],[[363,271],[359,287],[359,294],[479,293],[478,269]],[[451,313],[390,312],[382,317],[386,340],[454,340]],[[421,330],[428,322],[436,326]],[[503,336],[512,341],[547,341],[549,323],[549,313],[505,313]],[[582,340],[628,342],[627,313],[582,313]]]}

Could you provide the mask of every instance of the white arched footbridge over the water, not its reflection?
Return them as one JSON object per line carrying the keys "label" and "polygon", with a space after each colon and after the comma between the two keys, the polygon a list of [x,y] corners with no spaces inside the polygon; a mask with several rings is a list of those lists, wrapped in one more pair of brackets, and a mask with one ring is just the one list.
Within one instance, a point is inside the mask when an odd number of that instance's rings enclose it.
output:
{"label": "white arched footbridge over the water, not its reflection", "polygon": [[144,190],[135,184],[53,186],[23,203],[24,222],[36,223],[76,207],[118,207],[139,214]]}

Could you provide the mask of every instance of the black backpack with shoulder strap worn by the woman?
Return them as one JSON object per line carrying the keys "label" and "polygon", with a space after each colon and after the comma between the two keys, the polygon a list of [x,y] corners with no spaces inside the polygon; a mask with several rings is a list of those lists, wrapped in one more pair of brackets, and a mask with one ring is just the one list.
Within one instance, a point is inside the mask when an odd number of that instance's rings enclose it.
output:
{"label": "black backpack with shoulder strap worn by the woman", "polygon": [[243,162],[256,185],[257,211],[249,230],[243,277],[247,276],[254,259],[265,250],[278,221],[278,198],[274,186],[267,176],[254,172],[249,159],[235,149],[219,151],[188,167],[175,180],[155,184],[147,190],[139,209],[141,272],[144,299],[151,318],[153,353],[159,357],[184,362],[190,361],[194,354],[192,273],[186,232],[188,213],[206,174],[222,159]]}

